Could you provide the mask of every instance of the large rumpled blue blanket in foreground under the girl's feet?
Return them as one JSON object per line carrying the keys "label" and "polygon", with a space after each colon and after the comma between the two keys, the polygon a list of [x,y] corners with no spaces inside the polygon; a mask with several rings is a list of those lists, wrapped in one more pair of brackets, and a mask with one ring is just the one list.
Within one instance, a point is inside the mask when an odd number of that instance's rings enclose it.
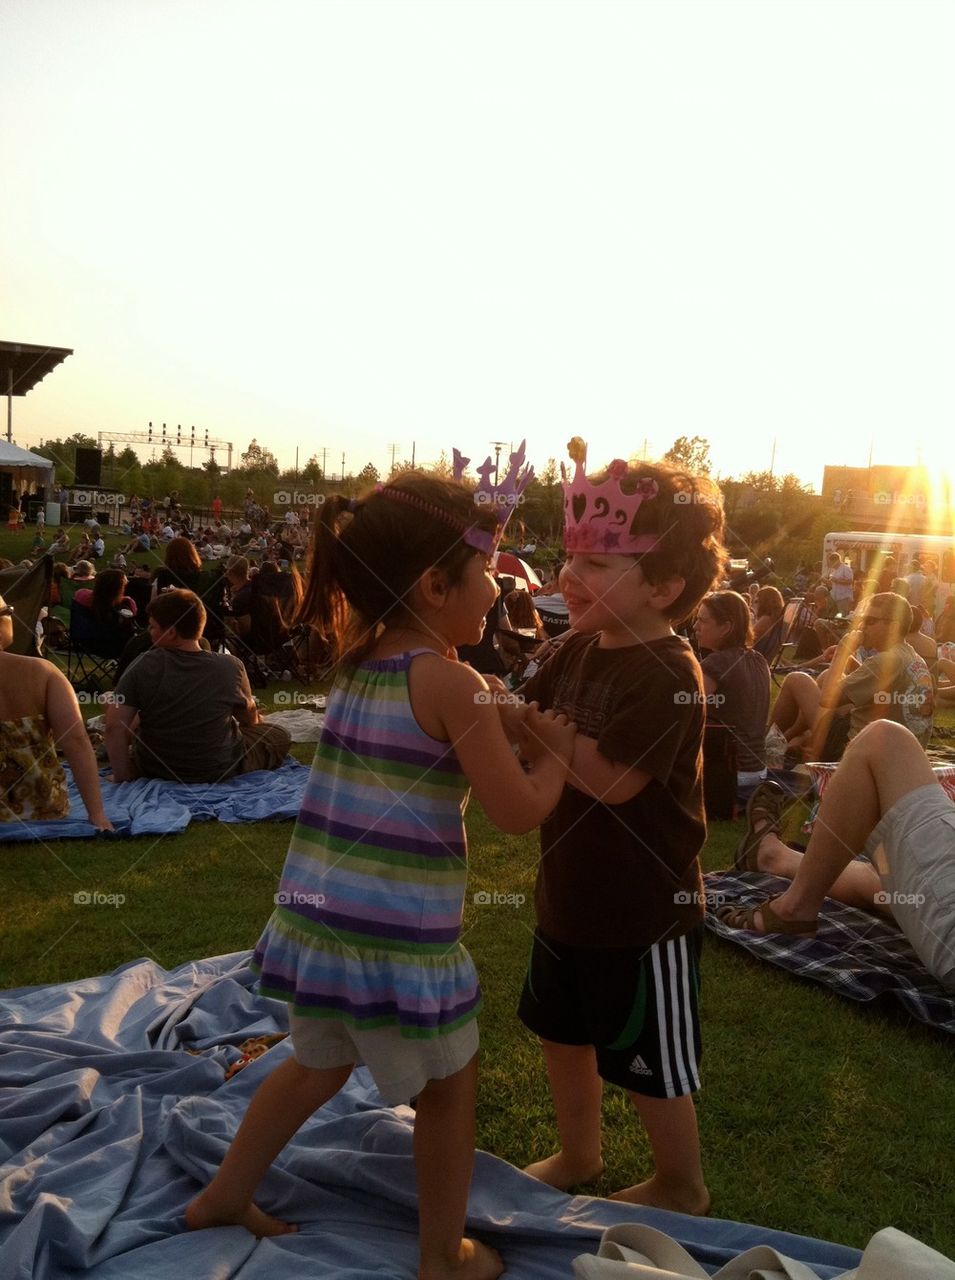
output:
{"label": "large rumpled blue blanket in foreground under the girl's feet", "polygon": [[[138,960],[102,978],[0,992],[0,1267],[4,1280],[364,1280],[413,1277],[413,1112],[384,1107],[364,1069],[266,1175],[262,1207],[301,1230],[184,1233],[248,1098],[288,1041],[224,1080],[238,1046],[284,1030],[253,991],[248,952],[166,972]],[[568,1280],[603,1228],[648,1222],[716,1271],[757,1243],[828,1277],[854,1249],[739,1222],[571,1198],[479,1153],[469,1229],[511,1280]]]}

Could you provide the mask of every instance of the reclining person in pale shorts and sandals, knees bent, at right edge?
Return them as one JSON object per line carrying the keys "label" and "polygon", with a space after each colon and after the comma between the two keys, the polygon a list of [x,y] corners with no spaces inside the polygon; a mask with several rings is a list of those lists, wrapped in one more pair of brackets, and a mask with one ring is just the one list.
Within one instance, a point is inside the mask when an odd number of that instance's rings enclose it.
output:
{"label": "reclining person in pale shorts and sandals, knees bent, at right edge", "polygon": [[805,854],[780,838],[787,799],[774,782],[753,792],[736,865],[792,883],[758,906],[721,908],[723,924],[812,936],[823,899],[835,897],[894,916],[928,972],[955,989],[955,804],[914,735],[886,719],[853,739]]}

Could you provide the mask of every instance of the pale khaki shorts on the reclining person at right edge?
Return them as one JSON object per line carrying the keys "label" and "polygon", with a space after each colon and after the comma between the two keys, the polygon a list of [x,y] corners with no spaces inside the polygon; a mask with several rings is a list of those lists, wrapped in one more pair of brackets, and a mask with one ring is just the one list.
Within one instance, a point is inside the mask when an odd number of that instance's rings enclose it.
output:
{"label": "pale khaki shorts on the reclining person at right edge", "polygon": [[937,782],[917,787],[882,817],[864,852],[924,966],[955,988],[955,804]]}

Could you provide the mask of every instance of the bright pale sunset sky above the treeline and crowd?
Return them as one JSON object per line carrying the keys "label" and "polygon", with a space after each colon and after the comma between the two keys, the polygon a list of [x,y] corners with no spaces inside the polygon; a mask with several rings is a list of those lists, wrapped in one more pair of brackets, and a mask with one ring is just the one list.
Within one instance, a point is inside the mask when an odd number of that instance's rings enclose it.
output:
{"label": "bright pale sunset sky above the treeline and crowd", "polygon": [[3,0],[14,438],[955,466],[954,8]]}

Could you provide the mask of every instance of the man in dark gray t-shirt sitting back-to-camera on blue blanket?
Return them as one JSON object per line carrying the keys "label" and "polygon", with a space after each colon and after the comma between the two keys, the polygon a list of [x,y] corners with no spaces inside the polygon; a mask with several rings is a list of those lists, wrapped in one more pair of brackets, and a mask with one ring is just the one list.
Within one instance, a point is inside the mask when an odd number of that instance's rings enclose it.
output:
{"label": "man in dark gray t-shirt sitting back-to-camera on blue blanket", "polygon": [[124,672],[106,709],[114,781],[220,782],[278,768],[289,736],[260,722],[238,658],[200,648],[205,609],[198,596],[164,591],[148,618],[152,649]]}

